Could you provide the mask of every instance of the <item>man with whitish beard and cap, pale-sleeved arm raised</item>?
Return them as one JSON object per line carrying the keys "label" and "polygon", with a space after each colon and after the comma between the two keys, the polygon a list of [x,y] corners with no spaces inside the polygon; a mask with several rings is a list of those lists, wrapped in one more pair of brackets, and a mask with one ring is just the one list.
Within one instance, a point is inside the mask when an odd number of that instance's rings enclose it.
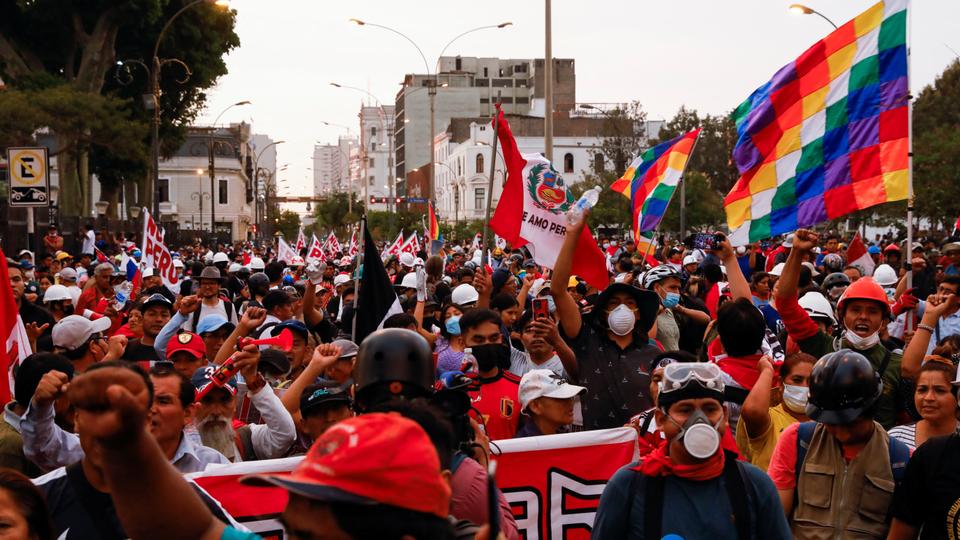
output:
{"label": "man with whitish beard and cap, pale-sleeved arm raised", "polygon": [[242,424],[234,420],[237,380],[216,384],[211,375],[217,366],[200,368],[191,382],[197,390],[194,422],[200,441],[230,461],[254,461],[283,457],[296,439],[296,426],[280,398],[257,373],[260,351],[247,346],[236,354],[234,363],[247,384],[247,395],[260,411],[262,424]]}

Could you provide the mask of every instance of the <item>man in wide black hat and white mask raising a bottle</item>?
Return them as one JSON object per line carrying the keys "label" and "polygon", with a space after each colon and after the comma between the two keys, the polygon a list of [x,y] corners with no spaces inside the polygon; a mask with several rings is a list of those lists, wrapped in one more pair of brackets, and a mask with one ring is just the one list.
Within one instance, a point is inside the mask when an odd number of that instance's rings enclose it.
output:
{"label": "man in wide black hat and white mask raising a bottle", "polygon": [[[567,228],[553,283],[570,280],[582,229],[582,223]],[[660,296],[614,283],[597,297],[585,321],[567,289],[553,287],[550,291],[563,338],[576,355],[576,362],[564,362],[563,367],[571,382],[587,387],[581,400],[584,429],[620,427],[633,415],[652,407],[651,363],[660,350],[650,343],[647,334],[660,310]]]}

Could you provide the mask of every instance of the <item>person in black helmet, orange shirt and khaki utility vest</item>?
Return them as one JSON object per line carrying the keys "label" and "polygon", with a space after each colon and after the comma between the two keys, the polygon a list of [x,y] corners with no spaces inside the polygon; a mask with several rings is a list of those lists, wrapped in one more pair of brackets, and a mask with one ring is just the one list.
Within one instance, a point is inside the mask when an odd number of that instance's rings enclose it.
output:
{"label": "person in black helmet, orange shirt and khaki utility vest", "polygon": [[793,538],[887,538],[910,449],[874,420],[884,386],[873,362],[851,349],[814,364],[813,421],[783,430],[768,469]]}

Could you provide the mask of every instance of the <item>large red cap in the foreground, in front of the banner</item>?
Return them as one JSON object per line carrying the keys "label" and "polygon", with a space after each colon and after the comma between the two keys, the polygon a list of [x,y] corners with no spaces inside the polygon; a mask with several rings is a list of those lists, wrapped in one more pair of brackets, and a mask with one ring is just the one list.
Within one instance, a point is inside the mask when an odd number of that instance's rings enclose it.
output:
{"label": "large red cap in the foreground, in front of the banner", "polygon": [[240,480],[274,485],[319,501],[385,504],[446,518],[450,487],[437,451],[416,422],[396,413],[371,413],[328,429],[289,476]]}

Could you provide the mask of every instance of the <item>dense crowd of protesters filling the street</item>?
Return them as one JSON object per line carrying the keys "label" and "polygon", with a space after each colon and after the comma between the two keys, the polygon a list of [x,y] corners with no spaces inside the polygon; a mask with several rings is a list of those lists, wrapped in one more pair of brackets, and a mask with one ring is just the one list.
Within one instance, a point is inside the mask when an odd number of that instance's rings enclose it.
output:
{"label": "dense crowd of protesters filling the street", "polygon": [[401,313],[362,340],[345,253],[177,246],[175,287],[147,268],[130,290],[134,242],[87,228],[74,256],[52,229],[7,261],[33,354],[0,421],[0,538],[255,538],[182,474],[305,455],[243,479],[289,492],[291,538],[514,539],[491,441],[623,426],[640,458],[595,538],[957,536],[960,243],[601,239],[598,290],[571,275],[582,226],[552,270],[456,243],[384,259]]}

